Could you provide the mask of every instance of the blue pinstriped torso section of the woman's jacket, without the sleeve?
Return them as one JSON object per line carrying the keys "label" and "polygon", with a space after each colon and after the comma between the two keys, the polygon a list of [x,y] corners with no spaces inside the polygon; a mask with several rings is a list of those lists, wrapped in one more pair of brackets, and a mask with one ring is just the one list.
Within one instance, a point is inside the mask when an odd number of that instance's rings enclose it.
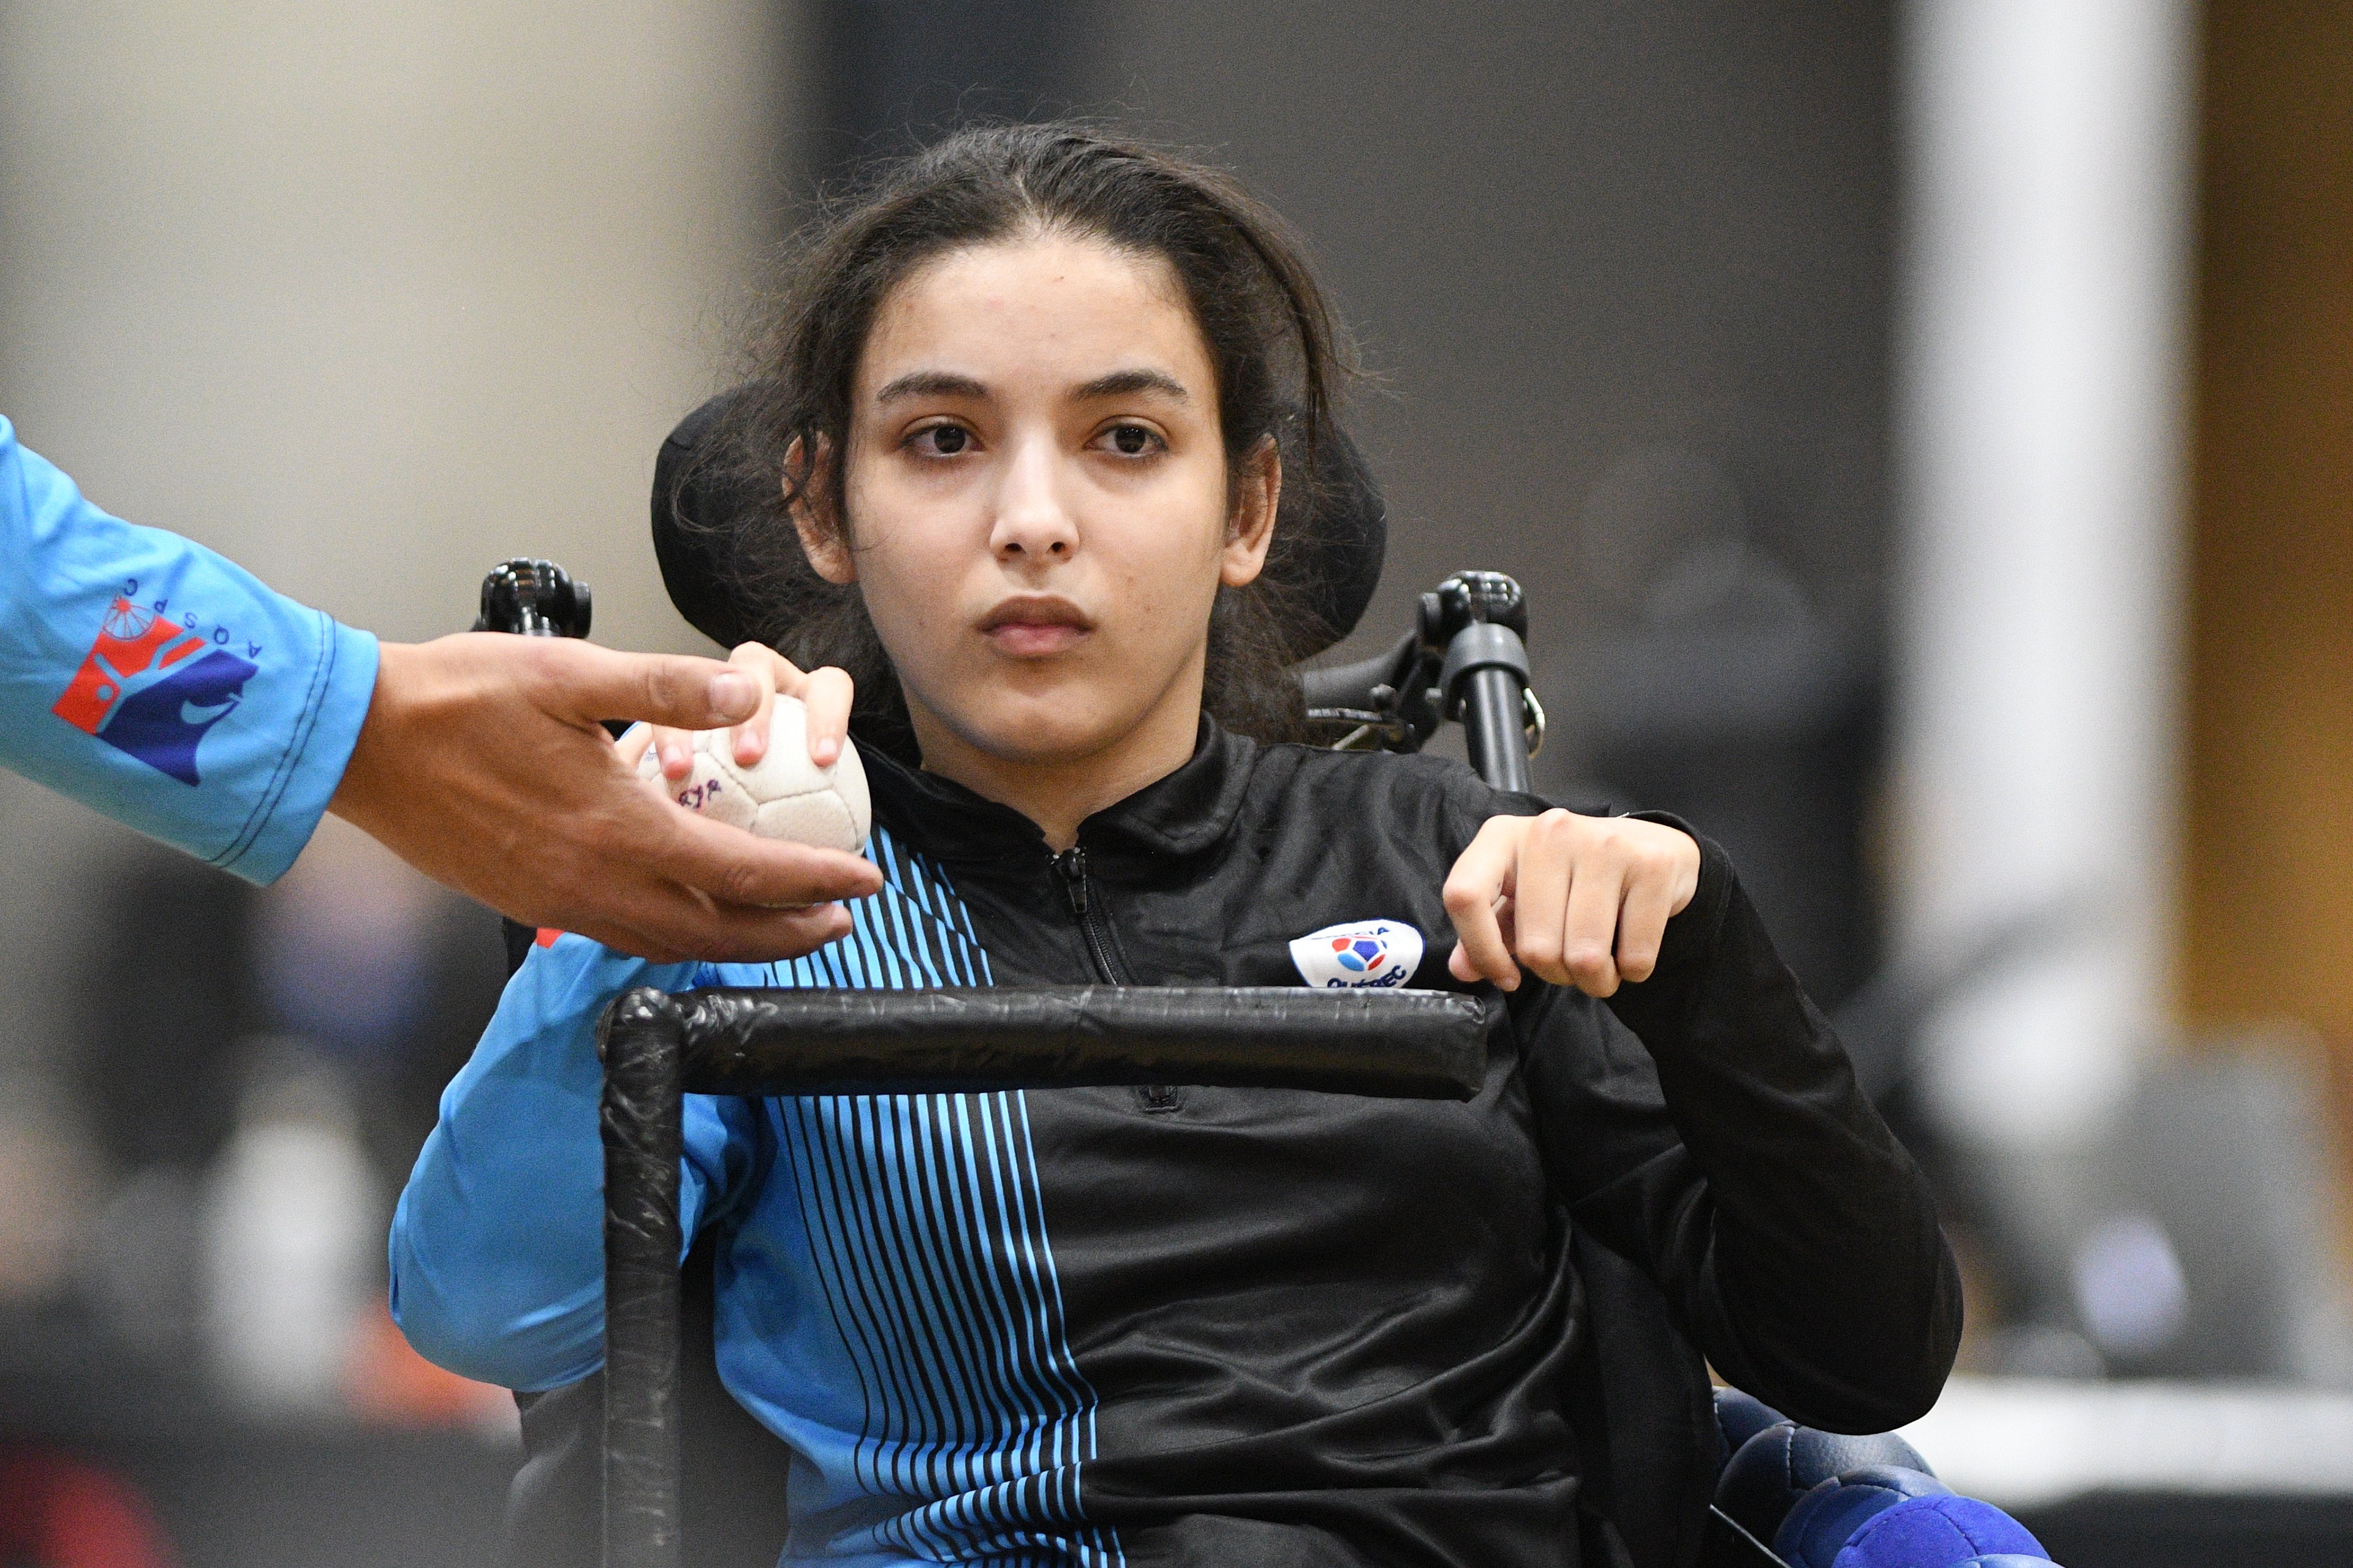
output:
{"label": "blue pinstriped torso section of the woman's jacket, without the sleeve", "polygon": [[[718,985],[993,985],[972,917],[887,830],[847,938]],[[788,1561],[1125,1563],[1085,1523],[1071,1354],[1021,1091],[765,1103],[725,1220],[720,1371],[795,1453]],[[788,1312],[776,1305],[791,1300]],[[781,1331],[781,1333],[779,1333]]]}

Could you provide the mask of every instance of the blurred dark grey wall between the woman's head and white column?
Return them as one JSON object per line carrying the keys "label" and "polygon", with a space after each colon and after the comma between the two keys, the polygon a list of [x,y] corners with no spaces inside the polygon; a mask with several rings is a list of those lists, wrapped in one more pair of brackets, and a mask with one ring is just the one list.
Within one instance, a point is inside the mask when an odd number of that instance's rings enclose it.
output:
{"label": "blurred dark grey wall between the woman's head and white column", "polygon": [[[1539,778],[1685,809],[1814,987],[1871,964],[1887,5],[1089,5],[1092,103],[1311,237],[1391,564],[1529,588]],[[1395,630],[1393,630],[1395,628]],[[1548,764],[1548,766],[1546,766]]]}

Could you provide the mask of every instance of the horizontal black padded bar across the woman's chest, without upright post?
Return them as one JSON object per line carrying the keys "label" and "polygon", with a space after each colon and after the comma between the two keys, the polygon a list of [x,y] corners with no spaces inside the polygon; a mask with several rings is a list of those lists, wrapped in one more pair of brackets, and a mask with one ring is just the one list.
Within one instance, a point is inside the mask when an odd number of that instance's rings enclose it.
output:
{"label": "horizontal black padded bar across the woman's chest, without upright post", "polygon": [[699,990],[678,999],[689,1093],[918,1093],[1078,1084],[1468,1100],[1485,1006],[1297,985]]}

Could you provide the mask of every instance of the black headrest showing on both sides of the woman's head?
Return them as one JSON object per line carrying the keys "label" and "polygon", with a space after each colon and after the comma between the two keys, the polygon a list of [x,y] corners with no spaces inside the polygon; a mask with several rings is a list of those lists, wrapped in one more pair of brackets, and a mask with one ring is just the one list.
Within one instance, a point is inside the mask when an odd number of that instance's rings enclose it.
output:
{"label": "black headrest showing on both sides of the woman's head", "polygon": [[[729,520],[755,515],[760,496],[753,496],[753,482],[736,465],[696,463],[694,456],[722,428],[732,397],[736,393],[720,393],[678,421],[654,456],[654,559],[661,564],[661,585],[671,590],[678,614],[725,649],[753,639],[755,616],[732,588]],[[1381,484],[1355,442],[1344,430],[1332,435],[1315,454],[1313,482],[1282,487],[1282,510],[1275,517],[1278,534],[1308,548],[1297,564],[1315,616],[1301,618],[1294,661],[1322,654],[1355,630],[1381,583],[1381,557],[1388,552]],[[1287,465],[1299,461],[1292,449],[1294,442],[1285,442]]]}

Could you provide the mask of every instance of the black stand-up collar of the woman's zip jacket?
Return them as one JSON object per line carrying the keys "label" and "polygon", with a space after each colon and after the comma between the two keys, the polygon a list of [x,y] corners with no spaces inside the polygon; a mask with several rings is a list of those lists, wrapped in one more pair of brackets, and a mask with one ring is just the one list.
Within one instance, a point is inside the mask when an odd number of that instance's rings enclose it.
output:
{"label": "black stand-up collar of the woman's zip jacket", "polygon": [[[1200,719],[1193,757],[1122,802],[1104,806],[1078,825],[1089,856],[1195,856],[1212,849],[1242,809],[1242,795],[1259,764],[1259,745]],[[984,799],[965,785],[866,752],[866,783],[875,816],[911,849],[932,860],[998,860],[1012,853],[1045,853],[1045,835],[1033,820]]]}

